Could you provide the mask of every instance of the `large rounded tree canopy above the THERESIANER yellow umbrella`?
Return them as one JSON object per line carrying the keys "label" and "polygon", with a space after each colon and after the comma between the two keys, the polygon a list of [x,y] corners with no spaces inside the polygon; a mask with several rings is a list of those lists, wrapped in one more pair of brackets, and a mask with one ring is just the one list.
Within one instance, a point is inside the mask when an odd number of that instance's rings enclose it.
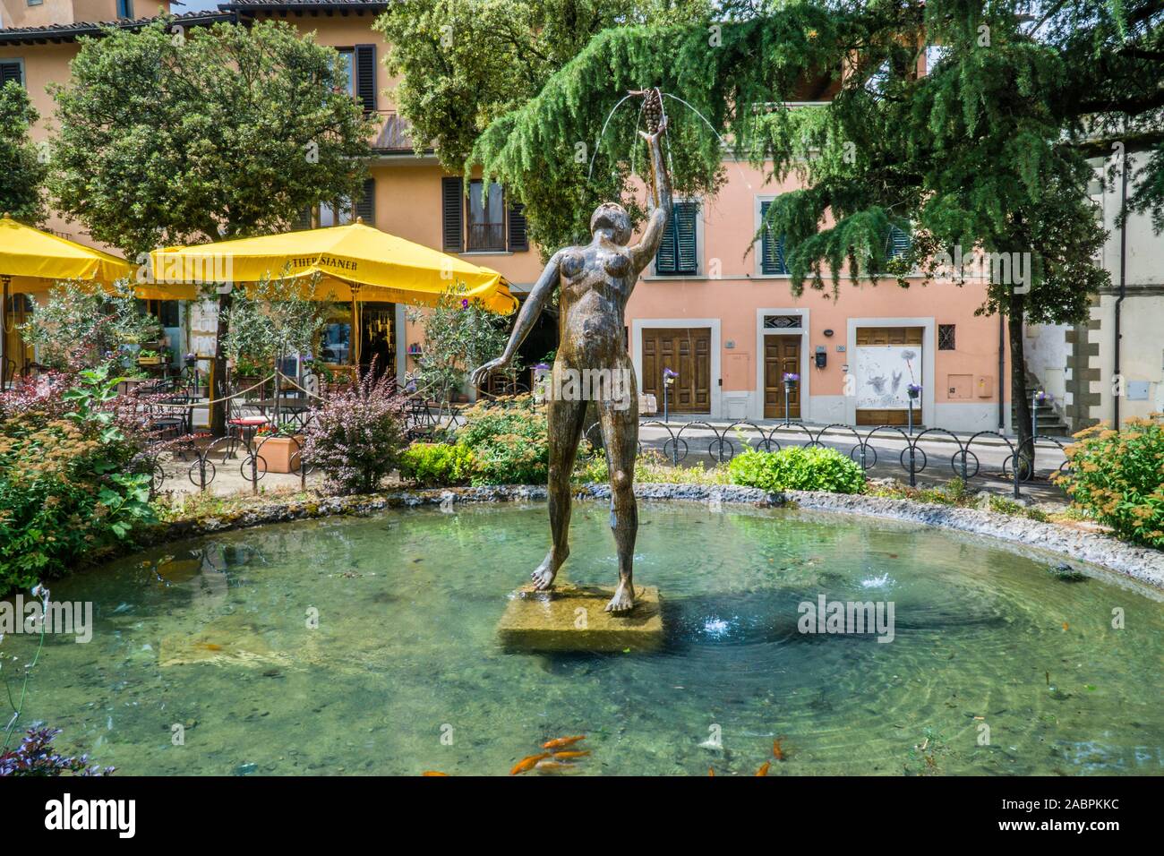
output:
{"label": "large rounded tree canopy above the THERESIANER yellow umbrella", "polygon": [[80,40],[54,87],[55,204],[130,257],[285,231],[353,198],[372,122],[336,52],[286,22],[184,33],[172,19]]}

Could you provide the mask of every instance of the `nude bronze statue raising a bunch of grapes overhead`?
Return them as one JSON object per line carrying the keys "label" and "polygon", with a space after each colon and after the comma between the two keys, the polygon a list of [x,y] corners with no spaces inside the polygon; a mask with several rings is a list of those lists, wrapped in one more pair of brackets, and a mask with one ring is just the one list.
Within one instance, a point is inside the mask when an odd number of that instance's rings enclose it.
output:
{"label": "nude bronze statue raising a bunch of grapes overhead", "polygon": [[[640,94],[640,93],[636,93]],[[659,90],[647,90],[644,115],[646,132],[639,134],[651,149],[652,210],[643,240],[627,247],[631,221],[617,204],[599,205],[590,218],[594,239],[584,247],[558,250],[530,291],[513,325],[505,352],[473,373],[480,385],[489,373],[504,368],[517,353],[555,288],[559,298],[559,345],[554,361],[549,422],[549,530],[553,545],[533,572],[534,588],[554,585],[558,570],[569,556],[570,472],[579,441],[585,429],[588,399],[595,399],[610,473],[610,525],[618,545],[618,589],[606,604],[608,613],[625,613],[634,606],[632,564],[638,510],[634,503],[634,459],[639,446],[639,406],[634,369],[626,353],[626,302],[639,274],[654,257],[670,219],[670,177],[661,139],[667,129]],[[580,389],[577,379],[583,379]],[[585,379],[608,379],[587,388]],[[565,381],[565,382],[563,382]],[[574,381],[574,383],[570,383]],[[573,391],[581,392],[570,394]],[[620,390],[620,394],[619,394]]]}

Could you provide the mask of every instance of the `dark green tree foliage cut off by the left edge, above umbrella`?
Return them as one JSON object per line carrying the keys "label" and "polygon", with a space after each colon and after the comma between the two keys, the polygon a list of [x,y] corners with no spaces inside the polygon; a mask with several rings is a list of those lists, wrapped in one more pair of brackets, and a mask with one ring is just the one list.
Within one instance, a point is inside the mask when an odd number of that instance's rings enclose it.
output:
{"label": "dark green tree foliage cut off by the left edge, above umbrella", "polygon": [[38,118],[23,86],[14,80],[0,86],[0,213],[34,226],[44,220],[41,190],[48,172],[28,136]]}

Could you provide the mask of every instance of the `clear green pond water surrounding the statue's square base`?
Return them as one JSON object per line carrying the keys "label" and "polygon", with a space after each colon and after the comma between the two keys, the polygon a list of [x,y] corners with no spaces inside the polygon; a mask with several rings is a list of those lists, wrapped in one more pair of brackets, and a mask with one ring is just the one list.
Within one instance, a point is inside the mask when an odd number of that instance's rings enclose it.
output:
{"label": "clear green pond water surrounding the statue's square base", "polygon": [[[22,722],[126,773],[497,774],[567,734],[589,735],[581,774],[750,774],[774,738],[772,776],[1164,772],[1158,593],[913,525],[677,503],[640,517],[659,653],[497,646],[545,553],[544,507],[395,511],[57,581],[54,600],[93,602],[93,639],[49,638]],[[570,581],[615,579],[608,521],[575,508]],[[822,594],[892,601],[893,642],[799,632]],[[35,642],[3,641],[9,680]]]}

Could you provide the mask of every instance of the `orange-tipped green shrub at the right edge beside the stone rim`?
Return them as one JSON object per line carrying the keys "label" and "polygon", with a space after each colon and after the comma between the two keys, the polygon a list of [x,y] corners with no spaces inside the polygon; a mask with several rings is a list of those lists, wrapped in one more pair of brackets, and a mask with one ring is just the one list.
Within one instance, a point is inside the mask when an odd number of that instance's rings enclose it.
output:
{"label": "orange-tipped green shrub at the right edge beside the stone rim", "polygon": [[1164,425],[1129,419],[1123,431],[1096,425],[1076,439],[1058,484],[1119,537],[1164,550]]}

